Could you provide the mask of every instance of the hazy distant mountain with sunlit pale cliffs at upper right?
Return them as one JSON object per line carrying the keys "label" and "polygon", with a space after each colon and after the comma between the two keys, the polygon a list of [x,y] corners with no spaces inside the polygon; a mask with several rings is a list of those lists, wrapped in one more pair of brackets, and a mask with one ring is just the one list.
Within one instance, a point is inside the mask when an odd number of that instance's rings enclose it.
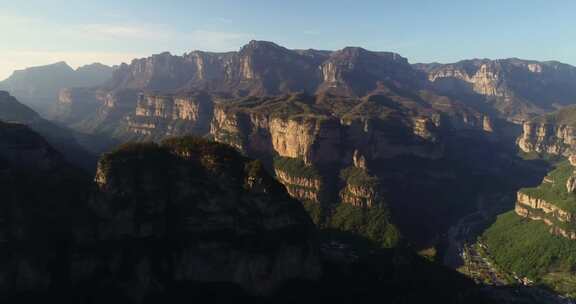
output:
{"label": "hazy distant mountain with sunlit pale cliffs at upper right", "polygon": [[572,104],[576,98],[576,68],[559,62],[475,59],[417,67],[441,92],[480,95],[512,121]]}

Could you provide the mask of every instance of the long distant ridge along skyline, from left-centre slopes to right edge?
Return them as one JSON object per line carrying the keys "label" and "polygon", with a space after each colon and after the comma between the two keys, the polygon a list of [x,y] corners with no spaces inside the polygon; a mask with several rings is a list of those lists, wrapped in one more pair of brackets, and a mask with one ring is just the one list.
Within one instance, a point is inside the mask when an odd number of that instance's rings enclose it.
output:
{"label": "long distant ridge along skyline, from left-centre slopes to right edge", "polygon": [[104,85],[63,90],[52,117],[84,130],[110,131],[135,114],[141,93],[204,93],[219,101],[307,93],[349,98],[349,110],[372,95],[394,95],[397,102],[423,109],[427,101],[422,96],[433,93],[452,105],[519,122],[576,103],[576,68],[521,59],[411,65],[399,54],[359,47],[290,50],[251,41],[237,52],[134,59],[120,65]]}

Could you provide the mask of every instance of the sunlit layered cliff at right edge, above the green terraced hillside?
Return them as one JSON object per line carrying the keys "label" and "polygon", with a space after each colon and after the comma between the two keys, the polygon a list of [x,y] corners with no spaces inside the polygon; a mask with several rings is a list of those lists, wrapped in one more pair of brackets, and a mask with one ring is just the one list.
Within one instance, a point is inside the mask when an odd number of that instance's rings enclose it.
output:
{"label": "sunlit layered cliff at right edge, above the green terraced hillside", "polygon": [[575,122],[573,106],[526,121],[518,146],[524,152],[572,155],[576,144]]}

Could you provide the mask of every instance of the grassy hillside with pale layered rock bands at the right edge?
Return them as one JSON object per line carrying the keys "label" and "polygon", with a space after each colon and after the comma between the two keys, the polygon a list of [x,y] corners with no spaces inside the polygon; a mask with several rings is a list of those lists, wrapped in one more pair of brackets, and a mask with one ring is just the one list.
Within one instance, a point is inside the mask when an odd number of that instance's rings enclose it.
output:
{"label": "grassy hillside with pale layered rock bands at the right edge", "polygon": [[548,174],[537,188],[522,189],[517,194],[516,214],[543,221],[550,232],[576,240],[576,171],[565,162]]}

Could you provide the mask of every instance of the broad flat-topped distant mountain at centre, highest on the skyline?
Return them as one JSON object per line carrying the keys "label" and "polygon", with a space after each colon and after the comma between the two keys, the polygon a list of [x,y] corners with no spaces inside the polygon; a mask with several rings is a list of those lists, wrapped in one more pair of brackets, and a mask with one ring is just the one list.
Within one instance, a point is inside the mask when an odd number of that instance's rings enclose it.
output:
{"label": "broad flat-topped distant mountain at centre, highest on the skyline", "polygon": [[251,41],[238,52],[162,53],[122,64],[109,90],[187,92],[206,90],[234,96],[294,92],[338,92],[363,96],[394,81],[423,79],[398,54],[357,47],[340,51],[290,50]]}

